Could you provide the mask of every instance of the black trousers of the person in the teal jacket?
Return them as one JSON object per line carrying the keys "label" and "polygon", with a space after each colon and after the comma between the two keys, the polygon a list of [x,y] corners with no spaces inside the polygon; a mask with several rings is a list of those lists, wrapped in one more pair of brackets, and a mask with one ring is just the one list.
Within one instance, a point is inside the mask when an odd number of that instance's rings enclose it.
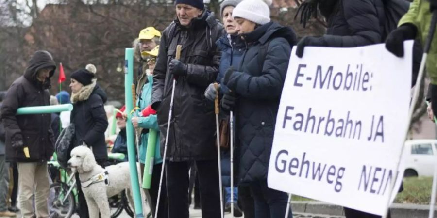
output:
{"label": "black trousers of the person in the teal jacket", "polygon": [[[152,207],[155,210],[156,202],[158,202],[158,191],[159,191],[159,180],[161,179],[161,168],[162,163],[156,164],[153,166],[152,178],[151,178],[151,188],[148,190],[151,200]],[[141,164],[141,172],[144,172],[144,164]],[[162,190],[161,197],[159,200],[159,208],[158,208],[158,218],[168,218],[168,204],[167,204],[167,180],[166,175],[162,178]],[[155,214],[153,214],[155,217]]]}

